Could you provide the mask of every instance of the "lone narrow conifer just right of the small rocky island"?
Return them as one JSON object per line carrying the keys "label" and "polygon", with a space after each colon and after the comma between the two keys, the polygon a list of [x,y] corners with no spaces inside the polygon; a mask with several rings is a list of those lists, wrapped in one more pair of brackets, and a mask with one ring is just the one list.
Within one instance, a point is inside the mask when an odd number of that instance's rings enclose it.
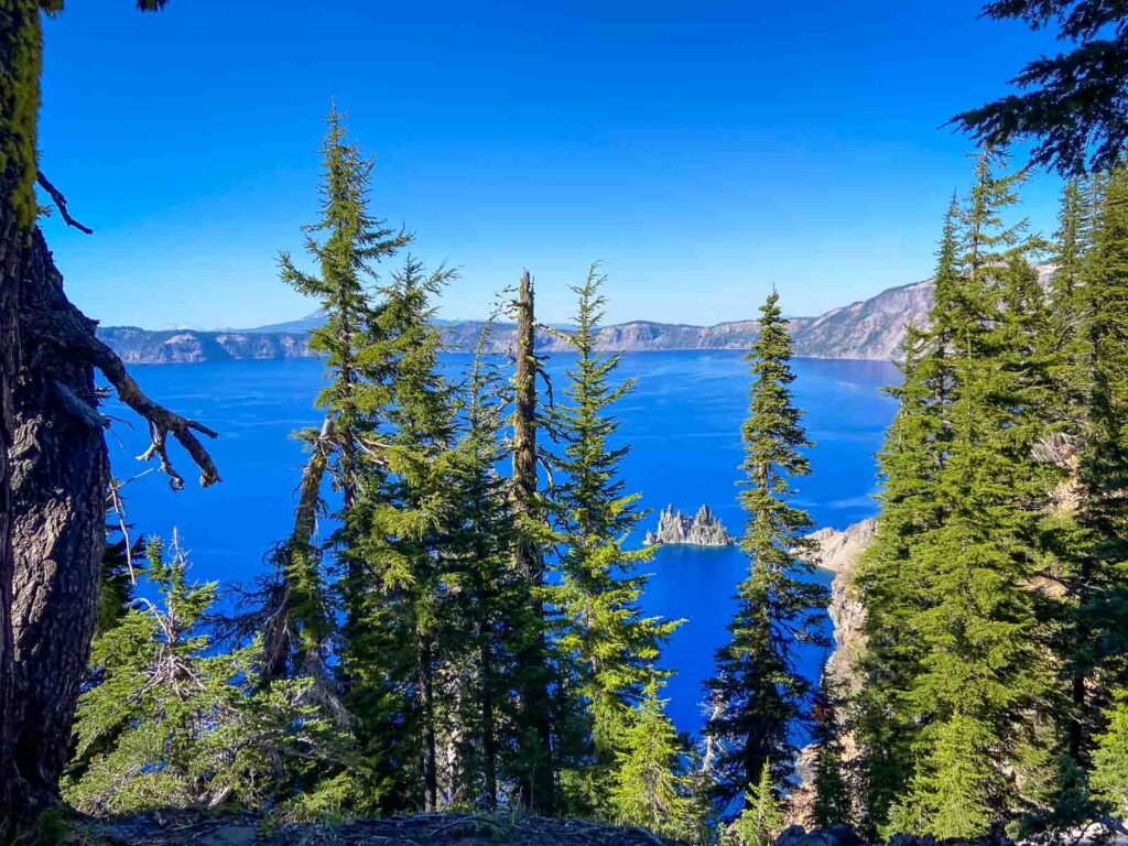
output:
{"label": "lone narrow conifer just right of the small rocky island", "polygon": [[810,473],[810,446],[791,402],[791,338],[773,293],[760,308],[759,336],[748,361],[754,381],[750,416],[742,428],[746,478],[740,501],[748,522],[741,549],[751,573],[737,592],[730,642],[717,651],[708,682],[715,704],[705,732],[717,749],[717,795],[728,804],[772,763],[772,784],[790,784],[793,730],[807,717],[811,682],[796,667],[796,650],[828,646],[822,613],[827,589],[810,575],[812,526],[793,506],[791,479]]}

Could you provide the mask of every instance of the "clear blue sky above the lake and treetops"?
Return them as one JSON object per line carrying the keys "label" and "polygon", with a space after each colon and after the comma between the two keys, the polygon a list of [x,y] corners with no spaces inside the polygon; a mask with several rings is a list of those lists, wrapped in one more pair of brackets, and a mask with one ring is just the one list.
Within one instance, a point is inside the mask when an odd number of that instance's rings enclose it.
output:
{"label": "clear blue sky above the lake and treetops", "polygon": [[[252,326],[316,217],[329,98],[377,157],[373,211],[461,270],[479,317],[522,266],[544,319],[603,263],[608,317],[716,323],[773,283],[817,314],[928,275],[967,183],[941,124],[1052,49],[978,0],[82,0],[46,23],[45,223],[106,324]],[[1052,229],[1059,186],[1025,211]]]}

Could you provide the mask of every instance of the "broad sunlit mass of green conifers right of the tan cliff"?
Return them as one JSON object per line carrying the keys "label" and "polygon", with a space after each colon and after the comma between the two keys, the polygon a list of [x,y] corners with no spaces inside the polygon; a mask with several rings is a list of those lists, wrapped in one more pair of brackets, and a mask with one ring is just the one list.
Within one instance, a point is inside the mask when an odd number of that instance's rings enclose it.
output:
{"label": "broad sunlit mass of green conifers right of the tan cliff", "polygon": [[1021,175],[997,177],[997,158],[980,157],[967,203],[949,212],[932,325],[909,335],[882,453],[879,532],[858,580],[871,831],[978,836],[1020,792],[1055,791],[1058,740],[1038,726],[1058,719],[1059,629],[1031,585],[1052,564],[1047,513],[1065,473],[1039,455],[1068,370],[1028,262],[1040,244],[1004,221]]}

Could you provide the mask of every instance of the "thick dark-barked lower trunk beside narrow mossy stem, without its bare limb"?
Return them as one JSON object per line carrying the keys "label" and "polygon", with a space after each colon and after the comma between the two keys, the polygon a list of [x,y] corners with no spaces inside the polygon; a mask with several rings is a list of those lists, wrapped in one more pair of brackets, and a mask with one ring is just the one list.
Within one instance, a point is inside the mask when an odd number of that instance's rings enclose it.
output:
{"label": "thick dark-barked lower trunk beside narrow mossy stem, without its bare limb", "polygon": [[73,311],[41,232],[26,263],[11,448],[16,765],[35,796],[53,799],[70,752],[89,659],[105,547],[109,468],[94,369],[44,331]]}

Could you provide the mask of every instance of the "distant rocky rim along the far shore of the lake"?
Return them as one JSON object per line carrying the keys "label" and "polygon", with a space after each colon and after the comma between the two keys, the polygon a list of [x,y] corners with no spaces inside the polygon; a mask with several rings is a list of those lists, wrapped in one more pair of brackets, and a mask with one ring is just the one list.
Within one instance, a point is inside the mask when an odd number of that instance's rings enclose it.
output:
{"label": "distant rocky rim along the far shore of the lake", "polygon": [[[1043,284],[1052,268],[1040,266]],[[932,282],[890,288],[876,297],[831,309],[819,317],[788,320],[795,355],[813,359],[892,360],[898,356],[909,324],[927,323],[932,308]],[[131,326],[99,328],[99,335],[130,363],[220,361],[230,359],[296,359],[314,355],[308,333],[319,326],[321,314],[300,320],[252,329],[200,332],[195,329],[148,331]],[[447,347],[470,352],[482,333],[482,320],[439,320]],[[608,351],[744,350],[756,340],[755,320],[733,320],[715,326],[632,320],[606,326],[599,346]],[[495,324],[490,352],[512,349],[513,324]],[[569,349],[559,329],[537,334],[537,349]]]}

